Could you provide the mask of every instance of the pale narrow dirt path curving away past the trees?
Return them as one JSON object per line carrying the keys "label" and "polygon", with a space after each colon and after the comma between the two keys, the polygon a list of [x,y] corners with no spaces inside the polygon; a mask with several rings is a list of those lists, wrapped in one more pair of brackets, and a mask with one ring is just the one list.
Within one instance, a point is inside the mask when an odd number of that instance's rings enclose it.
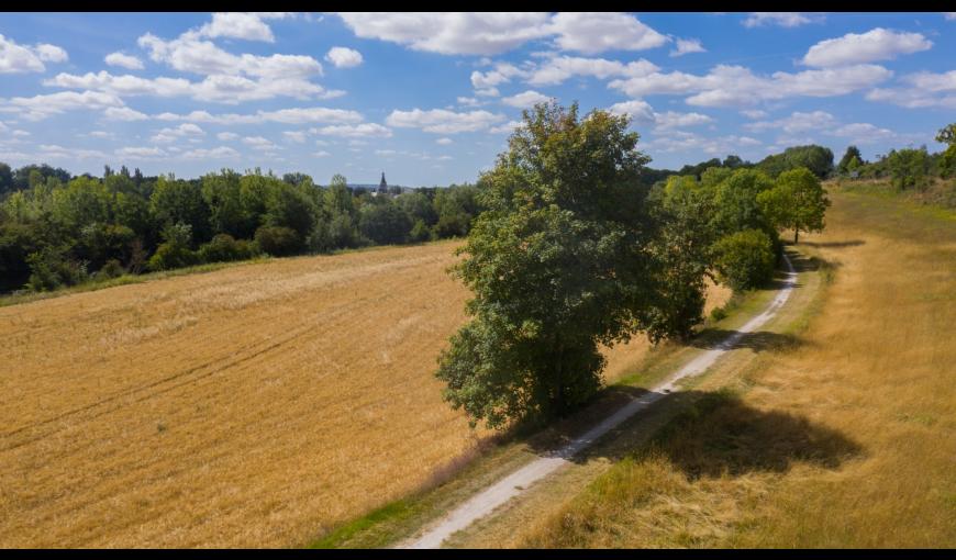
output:
{"label": "pale narrow dirt path curving away past the trees", "polygon": [[537,482],[559,467],[566,464],[571,457],[591,446],[601,436],[619,426],[637,412],[643,411],[666,394],[674,392],[677,389],[676,383],[681,379],[698,376],[707,371],[707,369],[710,368],[718,358],[732,349],[745,334],[760,328],[765,323],[774,318],[780,307],[787,303],[787,300],[790,298],[790,292],[793,291],[797,282],[797,271],[793,269],[793,265],[790,262],[787,255],[783,255],[783,262],[787,265],[787,278],[783,281],[783,287],[777,293],[777,296],[774,298],[774,301],[767,305],[767,309],[765,309],[763,313],[748,321],[744,326],[738,328],[736,333],[725,338],[714,348],[704,351],[685,365],[676,373],[654,387],[649,392],[631,401],[618,410],[618,412],[604,418],[600,424],[589,429],[586,434],[573,439],[560,449],[535,459],[508,477],[504,477],[459,505],[452,513],[442,518],[442,520],[436,525],[427,529],[418,539],[407,540],[400,544],[397,548],[441,547],[442,542],[453,534],[490,514],[496,507],[521,494],[534,482]]}

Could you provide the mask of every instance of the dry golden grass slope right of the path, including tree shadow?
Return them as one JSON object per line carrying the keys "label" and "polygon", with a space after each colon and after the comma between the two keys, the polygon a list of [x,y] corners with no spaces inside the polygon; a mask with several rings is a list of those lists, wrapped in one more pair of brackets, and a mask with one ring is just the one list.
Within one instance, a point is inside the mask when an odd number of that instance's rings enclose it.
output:
{"label": "dry golden grass slope right of the path, including tree shadow", "polygon": [[704,395],[525,546],[956,546],[956,220],[833,193],[802,345]]}

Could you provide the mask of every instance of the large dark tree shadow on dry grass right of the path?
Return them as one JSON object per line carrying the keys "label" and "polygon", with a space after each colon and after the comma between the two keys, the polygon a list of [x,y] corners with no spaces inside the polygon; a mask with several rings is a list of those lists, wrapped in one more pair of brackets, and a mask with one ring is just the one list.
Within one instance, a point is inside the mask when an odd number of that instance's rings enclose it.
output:
{"label": "large dark tree shadow on dry grass right of the path", "polygon": [[[636,388],[619,391],[631,399],[648,396],[648,391]],[[571,440],[567,437],[564,443]],[[542,456],[562,455],[555,447],[532,448]],[[585,463],[664,453],[689,480],[696,480],[754,471],[782,473],[794,463],[835,469],[863,451],[841,432],[803,416],[755,408],[727,392],[681,391],[656,394],[646,410],[568,459]]]}

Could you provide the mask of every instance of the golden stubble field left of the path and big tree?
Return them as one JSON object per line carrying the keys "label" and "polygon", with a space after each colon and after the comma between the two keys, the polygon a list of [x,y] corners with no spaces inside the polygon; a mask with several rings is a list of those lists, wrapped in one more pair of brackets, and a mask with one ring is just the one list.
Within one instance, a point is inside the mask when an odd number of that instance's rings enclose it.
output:
{"label": "golden stubble field left of the path and big tree", "polygon": [[426,484],[482,436],[433,377],[455,246],[0,307],[0,546],[296,546]]}

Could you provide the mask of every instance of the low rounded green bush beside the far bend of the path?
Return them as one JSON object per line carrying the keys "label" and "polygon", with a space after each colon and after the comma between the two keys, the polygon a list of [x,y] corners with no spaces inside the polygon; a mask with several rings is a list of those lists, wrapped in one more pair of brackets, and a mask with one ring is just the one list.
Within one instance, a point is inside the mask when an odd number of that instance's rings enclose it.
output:
{"label": "low rounded green bush beside the far bend of the path", "polygon": [[774,243],[759,229],[723,237],[715,244],[714,253],[718,273],[735,291],[756,288],[774,276]]}

